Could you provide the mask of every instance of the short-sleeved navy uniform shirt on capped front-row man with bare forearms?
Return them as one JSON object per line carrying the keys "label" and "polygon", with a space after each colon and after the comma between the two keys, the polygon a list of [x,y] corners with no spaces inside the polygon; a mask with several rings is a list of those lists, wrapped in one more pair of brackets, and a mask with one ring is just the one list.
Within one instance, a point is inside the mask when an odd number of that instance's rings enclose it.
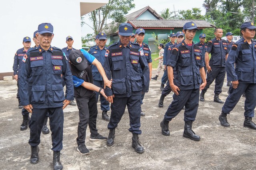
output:
{"label": "short-sleeved navy uniform shirt on capped front-row man with bare forearms", "polygon": [[176,67],[176,86],[180,90],[200,88],[202,78],[199,69],[204,67],[202,51],[194,42],[188,46],[184,40],[172,49],[167,65]]}

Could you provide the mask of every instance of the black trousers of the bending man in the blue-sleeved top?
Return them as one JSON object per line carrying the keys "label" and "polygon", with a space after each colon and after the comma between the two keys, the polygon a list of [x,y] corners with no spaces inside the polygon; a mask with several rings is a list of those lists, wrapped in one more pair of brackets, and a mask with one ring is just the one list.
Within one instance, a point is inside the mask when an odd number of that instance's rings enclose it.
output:
{"label": "black trousers of the bending man in the blue-sleeved top", "polygon": [[91,136],[98,135],[98,129],[96,128],[98,110],[95,93],[88,98],[76,98],[76,104],[79,109],[76,143],[77,145],[84,145],[87,125],[89,125]]}

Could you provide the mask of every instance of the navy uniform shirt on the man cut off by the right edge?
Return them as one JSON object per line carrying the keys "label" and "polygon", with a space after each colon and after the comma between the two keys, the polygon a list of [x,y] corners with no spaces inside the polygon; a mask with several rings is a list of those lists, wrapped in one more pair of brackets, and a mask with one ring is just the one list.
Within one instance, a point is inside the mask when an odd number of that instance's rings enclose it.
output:
{"label": "navy uniform shirt on the man cut off by the right edge", "polygon": [[228,81],[256,83],[256,43],[251,42],[242,38],[232,45],[226,62]]}

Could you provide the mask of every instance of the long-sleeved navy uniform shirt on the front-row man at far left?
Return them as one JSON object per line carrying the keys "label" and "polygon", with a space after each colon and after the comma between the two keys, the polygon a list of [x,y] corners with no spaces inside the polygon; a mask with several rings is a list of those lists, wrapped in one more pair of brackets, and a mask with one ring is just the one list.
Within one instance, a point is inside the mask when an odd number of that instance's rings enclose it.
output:
{"label": "long-sleeved navy uniform shirt on the front-row man at far left", "polygon": [[[24,55],[20,78],[20,101],[29,105],[28,79],[32,74],[31,104],[34,108],[62,107],[63,101],[74,100],[74,87],[68,59],[61,49],[50,47],[44,51],[39,45]],[[62,81],[66,84],[64,96]],[[66,97],[66,98],[65,98]]]}

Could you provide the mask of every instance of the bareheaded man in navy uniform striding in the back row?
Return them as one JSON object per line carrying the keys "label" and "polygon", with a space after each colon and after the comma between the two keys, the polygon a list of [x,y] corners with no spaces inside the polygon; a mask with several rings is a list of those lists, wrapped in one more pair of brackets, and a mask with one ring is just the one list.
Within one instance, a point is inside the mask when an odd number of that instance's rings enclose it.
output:
{"label": "bareheaded man in navy uniform striding in the back row", "polygon": [[[215,38],[208,42],[208,46],[205,52],[205,65],[207,69],[207,84],[200,94],[200,101],[204,102],[204,94],[215,80],[214,89],[214,102],[223,104],[220,100],[219,94],[222,92],[222,86],[226,75],[226,59],[228,58],[227,42],[221,39],[223,30],[216,28],[214,31]],[[209,54],[211,53],[211,59],[209,61]]]}

